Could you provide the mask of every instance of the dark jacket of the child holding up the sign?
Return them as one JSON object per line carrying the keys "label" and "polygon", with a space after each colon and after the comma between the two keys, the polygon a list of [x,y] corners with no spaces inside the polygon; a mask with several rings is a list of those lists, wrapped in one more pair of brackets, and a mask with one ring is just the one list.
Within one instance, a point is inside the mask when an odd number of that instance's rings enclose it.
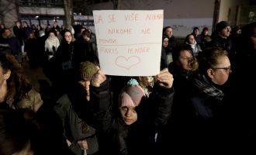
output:
{"label": "dark jacket of the child holding up the sign", "polygon": [[[155,135],[171,115],[172,88],[156,84],[149,98],[143,98],[137,106],[138,120],[127,126],[119,113],[112,113],[108,81],[99,88],[91,86],[92,103],[95,105],[96,129],[99,132],[99,148],[106,154],[154,154]],[[157,153],[156,153],[157,154]]]}

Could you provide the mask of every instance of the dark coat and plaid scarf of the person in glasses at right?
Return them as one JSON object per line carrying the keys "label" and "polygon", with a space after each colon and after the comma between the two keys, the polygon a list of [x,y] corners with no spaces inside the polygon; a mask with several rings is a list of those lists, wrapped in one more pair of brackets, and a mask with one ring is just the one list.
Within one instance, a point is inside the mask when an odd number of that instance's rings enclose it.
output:
{"label": "dark coat and plaid scarf of the person in glasses at right", "polygon": [[227,98],[223,86],[213,84],[205,75],[195,77],[193,86],[189,100],[192,112],[185,122],[188,126],[188,144],[191,146],[196,139],[198,143],[193,144],[194,146],[221,150],[225,148],[226,143],[232,141],[231,138],[234,138],[230,132],[230,98]]}

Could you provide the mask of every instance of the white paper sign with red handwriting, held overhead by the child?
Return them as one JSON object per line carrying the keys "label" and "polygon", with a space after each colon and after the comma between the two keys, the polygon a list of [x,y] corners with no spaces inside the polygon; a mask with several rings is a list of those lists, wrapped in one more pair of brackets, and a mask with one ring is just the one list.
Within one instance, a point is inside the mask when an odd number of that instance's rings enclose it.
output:
{"label": "white paper sign with red handwriting, held overhead by the child", "polygon": [[163,10],[93,11],[102,71],[109,75],[159,74]]}

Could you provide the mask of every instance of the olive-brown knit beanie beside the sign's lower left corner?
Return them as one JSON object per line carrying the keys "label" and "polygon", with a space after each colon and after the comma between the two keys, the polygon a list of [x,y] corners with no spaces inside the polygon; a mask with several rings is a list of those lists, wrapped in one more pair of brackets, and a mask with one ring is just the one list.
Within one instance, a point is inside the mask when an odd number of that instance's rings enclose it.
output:
{"label": "olive-brown knit beanie beside the sign's lower left corner", "polygon": [[81,62],[79,65],[80,79],[91,79],[98,70],[98,67],[89,61]]}

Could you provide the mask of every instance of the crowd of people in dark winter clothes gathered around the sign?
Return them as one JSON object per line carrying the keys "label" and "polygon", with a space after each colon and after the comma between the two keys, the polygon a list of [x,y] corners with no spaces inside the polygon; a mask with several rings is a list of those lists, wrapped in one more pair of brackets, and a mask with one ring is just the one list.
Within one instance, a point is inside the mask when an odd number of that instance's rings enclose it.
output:
{"label": "crowd of people in dark winter clothes gathered around the sign", "polygon": [[[2,155],[254,151],[256,22],[221,21],[211,35],[195,26],[182,45],[164,27],[160,72],[147,77],[104,74],[83,26],[16,22],[0,33]],[[47,98],[24,55],[50,79]]]}

